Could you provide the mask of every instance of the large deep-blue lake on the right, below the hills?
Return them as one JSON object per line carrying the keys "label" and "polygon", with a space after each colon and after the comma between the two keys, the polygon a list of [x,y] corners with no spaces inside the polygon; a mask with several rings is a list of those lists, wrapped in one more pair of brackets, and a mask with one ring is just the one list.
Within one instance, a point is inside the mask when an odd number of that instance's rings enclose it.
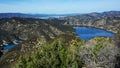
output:
{"label": "large deep-blue lake on the right, below the hills", "polygon": [[90,40],[97,36],[102,37],[111,37],[114,38],[115,34],[112,32],[108,32],[103,29],[93,28],[93,27],[73,27],[76,30],[76,34],[79,35],[79,37],[82,40]]}

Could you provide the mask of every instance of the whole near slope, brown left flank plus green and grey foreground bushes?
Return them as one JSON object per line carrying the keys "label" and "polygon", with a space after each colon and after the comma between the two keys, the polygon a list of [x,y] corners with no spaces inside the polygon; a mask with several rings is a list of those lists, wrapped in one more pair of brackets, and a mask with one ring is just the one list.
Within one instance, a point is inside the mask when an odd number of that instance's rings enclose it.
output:
{"label": "whole near slope, brown left flank plus green and grey foreground bushes", "polygon": [[[74,35],[62,34],[49,43],[34,37],[11,49],[0,60],[2,68],[114,68],[118,48],[113,39],[97,37],[83,41]],[[108,58],[109,57],[109,58]],[[91,64],[92,63],[92,64]]]}

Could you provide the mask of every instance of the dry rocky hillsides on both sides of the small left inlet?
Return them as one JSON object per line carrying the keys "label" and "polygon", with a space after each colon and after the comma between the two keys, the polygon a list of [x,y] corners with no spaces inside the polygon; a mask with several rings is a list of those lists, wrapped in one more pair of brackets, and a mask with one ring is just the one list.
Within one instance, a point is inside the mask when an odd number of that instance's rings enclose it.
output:
{"label": "dry rocky hillsides on both sides of the small left inlet", "polygon": [[[0,66],[18,60],[19,55],[38,50],[44,43],[52,41],[60,34],[74,32],[74,29],[60,24],[62,20],[43,20],[34,18],[2,18],[0,19]],[[3,51],[2,45],[22,39],[18,46]],[[38,45],[35,45],[38,44]],[[4,67],[3,67],[4,68]],[[5,67],[6,68],[6,67]]]}

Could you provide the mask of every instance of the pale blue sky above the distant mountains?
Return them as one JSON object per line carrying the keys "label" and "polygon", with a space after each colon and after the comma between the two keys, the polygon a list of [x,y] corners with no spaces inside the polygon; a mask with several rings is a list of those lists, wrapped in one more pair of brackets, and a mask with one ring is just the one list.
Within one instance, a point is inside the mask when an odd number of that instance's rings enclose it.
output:
{"label": "pale blue sky above the distant mountains", "polygon": [[120,11],[120,0],[0,0],[0,13],[69,14]]}

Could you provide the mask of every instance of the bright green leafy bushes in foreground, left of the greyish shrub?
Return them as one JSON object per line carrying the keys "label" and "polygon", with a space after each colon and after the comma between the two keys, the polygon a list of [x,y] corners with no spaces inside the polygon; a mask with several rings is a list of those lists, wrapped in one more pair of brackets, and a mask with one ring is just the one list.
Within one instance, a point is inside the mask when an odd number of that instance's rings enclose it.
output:
{"label": "bright green leafy bushes in foreground, left of the greyish shrub", "polygon": [[[68,41],[59,38],[51,44],[44,45],[30,56],[22,56],[15,68],[80,68],[82,58],[78,49],[83,41]],[[79,42],[79,43],[77,43]],[[80,45],[79,45],[80,44]]]}

